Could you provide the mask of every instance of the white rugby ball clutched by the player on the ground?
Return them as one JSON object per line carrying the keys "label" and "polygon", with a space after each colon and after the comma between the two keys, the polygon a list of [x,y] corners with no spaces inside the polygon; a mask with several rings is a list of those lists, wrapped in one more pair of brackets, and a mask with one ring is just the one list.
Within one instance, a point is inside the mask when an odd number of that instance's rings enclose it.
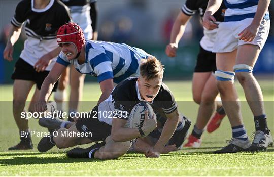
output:
{"label": "white rugby ball clutched by the player on the ground", "polygon": [[145,102],[138,103],[136,106],[133,107],[129,114],[128,118],[128,127],[129,128],[141,128],[144,125],[145,121],[145,111],[148,111],[148,118],[152,119],[155,118],[156,116],[153,117],[153,109],[152,107]]}

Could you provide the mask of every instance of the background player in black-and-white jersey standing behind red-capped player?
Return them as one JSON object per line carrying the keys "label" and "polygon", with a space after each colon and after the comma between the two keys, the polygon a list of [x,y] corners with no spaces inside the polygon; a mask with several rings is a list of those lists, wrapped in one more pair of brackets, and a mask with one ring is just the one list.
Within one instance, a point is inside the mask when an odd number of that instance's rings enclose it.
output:
{"label": "background player in black-and-white jersey standing behind red-capped player", "polygon": [[[62,0],[62,2],[70,8],[73,22],[77,23],[83,30],[86,39],[97,40],[98,33],[96,29],[97,8],[94,0]],[[70,82],[70,98],[68,102],[68,112],[77,112],[78,104],[82,99],[85,74],[81,74],[75,70],[73,66],[67,67],[59,79],[57,91],[54,99],[57,103],[57,109],[63,109],[63,102],[66,98],[65,87]],[[68,117],[73,121],[71,117]]]}

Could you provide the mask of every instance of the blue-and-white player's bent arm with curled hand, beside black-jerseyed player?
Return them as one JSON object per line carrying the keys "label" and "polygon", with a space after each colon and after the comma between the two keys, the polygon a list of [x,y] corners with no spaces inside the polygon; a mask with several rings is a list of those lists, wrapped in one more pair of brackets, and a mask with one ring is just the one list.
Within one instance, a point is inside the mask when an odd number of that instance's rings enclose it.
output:
{"label": "blue-and-white player's bent arm with curled hand, beside black-jerseyed player", "polygon": [[218,27],[218,25],[213,23],[216,22],[213,14],[220,8],[221,4],[221,0],[209,0],[207,10],[205,10],[202,20],[203,26],[208,30],[213,30]]}

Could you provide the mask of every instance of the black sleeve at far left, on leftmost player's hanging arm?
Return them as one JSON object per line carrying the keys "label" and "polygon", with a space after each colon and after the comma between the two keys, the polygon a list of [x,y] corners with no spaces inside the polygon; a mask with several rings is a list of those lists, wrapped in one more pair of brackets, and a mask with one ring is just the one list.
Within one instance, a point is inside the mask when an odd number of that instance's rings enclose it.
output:
{"label": "black sleeve at far left, on leftmost player's hanging arm", "polygon": [[27,4],[24,1],[21,1],[18,3],[15,9],[15,14],[11,20],[11,24],[20,28],[23,24],[23,22],[26,20],[26,9],[27,9]]}

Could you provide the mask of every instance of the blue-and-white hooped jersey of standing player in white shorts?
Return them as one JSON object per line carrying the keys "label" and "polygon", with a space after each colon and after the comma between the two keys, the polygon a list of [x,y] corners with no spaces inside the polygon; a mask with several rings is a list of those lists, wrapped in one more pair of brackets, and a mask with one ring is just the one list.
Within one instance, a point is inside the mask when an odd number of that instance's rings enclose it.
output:
{"label": "blue-and-white hooped jersey of standing player in white shorts", "polygon": [[[254,18],[259,0],[225,0],[227,10],[225,12],[225,22],[241,21],[246,18]],[[263,19],[269,20],[267,10]]]}

